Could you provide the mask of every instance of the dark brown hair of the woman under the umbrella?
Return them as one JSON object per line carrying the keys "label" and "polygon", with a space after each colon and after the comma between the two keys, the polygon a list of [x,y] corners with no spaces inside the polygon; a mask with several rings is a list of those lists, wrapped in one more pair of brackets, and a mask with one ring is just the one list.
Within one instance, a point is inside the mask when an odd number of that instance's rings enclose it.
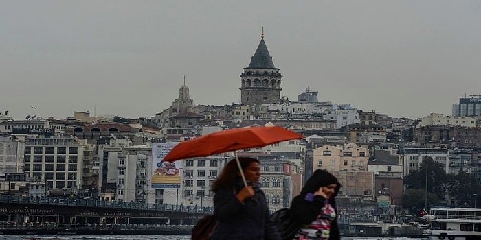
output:
{"label": "dark brown hair of the woman under the umbrella", "polygon": [[[239,158],[239,162],[242,171],[244,171],[251,165],[251,163],[259,163],[259,160],[256,158]],[[237,166],[236,159],[234,158],[225,165],[221,175],[219,175],[219,178],[217,178],[217,180],[214,182],[214,185],[212,185],[212,191],[215,193],[220,189],[230,189],[234,187],[239,173],[239,167]]]}

